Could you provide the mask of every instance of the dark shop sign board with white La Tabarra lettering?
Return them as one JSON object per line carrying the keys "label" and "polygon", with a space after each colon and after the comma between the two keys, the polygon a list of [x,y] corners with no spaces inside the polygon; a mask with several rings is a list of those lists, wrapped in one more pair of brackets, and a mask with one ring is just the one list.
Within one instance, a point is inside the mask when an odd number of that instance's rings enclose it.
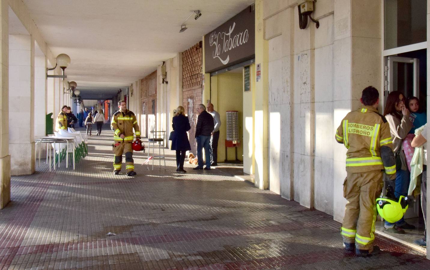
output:
{"label": "dark shop sign board with white La Tabarra lettering", "polygon": [[255,9],[248,7],[204,36],[205,73],[255,58]]}

